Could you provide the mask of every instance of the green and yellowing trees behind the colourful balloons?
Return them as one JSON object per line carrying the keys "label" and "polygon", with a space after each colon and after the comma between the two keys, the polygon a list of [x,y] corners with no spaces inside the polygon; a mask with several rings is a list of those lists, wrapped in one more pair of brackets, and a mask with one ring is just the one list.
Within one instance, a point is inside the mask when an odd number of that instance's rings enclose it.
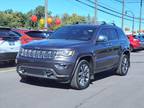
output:
{"label": "green and yellowing trees behind the colourful balloons", "polygon": [[[39,20],[41,18],[44,18],[44,13],[45,13],[44,11],[45,11],[44,6],[38,6],[34,10],[30,10],[27,13],[15,12],[12,9],[0,11],[0,26],[14,27],[14,28],[32,28],[32,29],[42,28],[43,25],[39,24]],[[38,17],[37,23],[33,23],[31,21],[32,15],[36,15]],[[52,15],[52,12],[49,11],[48,16],[51,16],[51,15]],[[87,17],[84,17],[84,16],[79,16],[75,13],[73,13],[72,15],[65,13],[61,17],[59,17],[58,15],[55,15],[52,18],[53,18],[53,23],[49,27],[49,29],[51,30],[55,30],[66,24],[75,24],[77,22],[85,23],[85,22],[91,21],[90,15],[88,15]],[[61,25],[55,25],[56,18],[61,19],[62,21]]]}

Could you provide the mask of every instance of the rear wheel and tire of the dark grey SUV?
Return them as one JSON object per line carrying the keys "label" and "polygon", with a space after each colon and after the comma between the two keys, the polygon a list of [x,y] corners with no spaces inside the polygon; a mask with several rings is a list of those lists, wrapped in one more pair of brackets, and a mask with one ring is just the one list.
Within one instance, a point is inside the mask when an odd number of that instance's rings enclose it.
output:
{"label": "rear wheel and tire of the dark grey SUV", "polygon": [[129,66],[130,66],[129,57],[125,54],[122,55],[116,73],[120,76],[127,75]]}

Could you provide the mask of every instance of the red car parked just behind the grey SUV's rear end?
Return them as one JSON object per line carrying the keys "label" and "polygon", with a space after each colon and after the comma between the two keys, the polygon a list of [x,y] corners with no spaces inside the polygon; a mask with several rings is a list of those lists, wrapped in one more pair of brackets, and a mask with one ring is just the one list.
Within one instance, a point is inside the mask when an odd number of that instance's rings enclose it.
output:
{"label": "red car parked just behind the grey SUV's rear end", "polygon": [[141,47],[140,40],[136,39],[133,35],[127,35],[127,36],[128,36],[129,42],[130,42],[131,51],[140,49],[140,47]]}

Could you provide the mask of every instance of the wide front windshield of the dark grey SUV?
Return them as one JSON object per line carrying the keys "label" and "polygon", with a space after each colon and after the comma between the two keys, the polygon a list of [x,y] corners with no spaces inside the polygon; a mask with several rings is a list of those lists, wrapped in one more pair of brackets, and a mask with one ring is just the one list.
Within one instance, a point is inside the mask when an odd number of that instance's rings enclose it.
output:
{"label": "wide front windshield of the dark grey SUV", "polygon": [[65,26],[56,30],[49,39],[68,39],[88,41],[92,38],[96,28],[90,26]]}

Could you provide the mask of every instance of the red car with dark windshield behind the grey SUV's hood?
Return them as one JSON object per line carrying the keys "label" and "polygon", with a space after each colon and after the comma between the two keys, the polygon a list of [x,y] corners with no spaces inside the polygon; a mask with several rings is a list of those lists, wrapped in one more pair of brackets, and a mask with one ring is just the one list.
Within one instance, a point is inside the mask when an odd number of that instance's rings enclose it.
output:
{"label": "red car with dark windshield behind the grey SUV's hood", "polygon": [[27,44],[33,40],[46,39],[51,35],[52,32],[48,31],[28,31],[21,37],[21,43]]}

